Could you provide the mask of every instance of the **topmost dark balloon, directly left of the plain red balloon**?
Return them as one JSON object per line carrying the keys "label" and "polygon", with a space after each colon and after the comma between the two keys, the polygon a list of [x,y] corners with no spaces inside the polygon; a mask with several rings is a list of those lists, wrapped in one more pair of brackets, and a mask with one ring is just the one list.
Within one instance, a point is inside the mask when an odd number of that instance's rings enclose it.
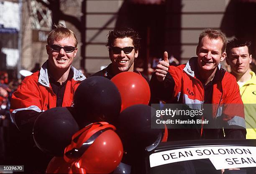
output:
{"label": "topmost dark balloon, directly left of the plain red balloon", "polygon": [[99,121],[113,123],[121,109],[120,93],[107,78],[89,77],[77,87],[74,108],[79,126]]}

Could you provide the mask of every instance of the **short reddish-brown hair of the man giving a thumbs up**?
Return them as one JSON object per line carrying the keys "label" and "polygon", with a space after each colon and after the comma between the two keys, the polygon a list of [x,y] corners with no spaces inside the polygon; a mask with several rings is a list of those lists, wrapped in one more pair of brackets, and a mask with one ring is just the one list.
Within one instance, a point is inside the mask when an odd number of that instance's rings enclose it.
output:
{"label": "short reddish-brown hair of the man giving a thumbs up", "polygon": [[202,38],[205,36],[209,37],[209,39],[221,39],[222,43],[223,43],[221,53],[223,53],[225,51],[226,45],[227,45],[227,38],[225,37],[223,32],[218,31],[218,30],[212,30],[210,28],[206,28],[199,35],[198,46],[201,44]]}

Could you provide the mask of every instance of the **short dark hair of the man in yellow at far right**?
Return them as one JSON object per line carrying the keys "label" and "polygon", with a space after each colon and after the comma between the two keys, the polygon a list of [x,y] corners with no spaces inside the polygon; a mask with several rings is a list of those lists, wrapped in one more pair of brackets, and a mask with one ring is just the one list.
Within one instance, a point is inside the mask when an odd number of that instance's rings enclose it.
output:
{"label": "short dark hair of the man in yellow at far right", "polygon": [[248,53],[249,55],[251,55],[251,41],[249,40],[245,40],[245,39],[241,39],[241,38],[234,38],[233,40],[228,41],[227,44],[227,48],[226,48],[226,52],[227,52],[227,57],[230,54],[230,50],[232,48],[237,48],[237,47],[244,47],[247,46],[248,47]]}

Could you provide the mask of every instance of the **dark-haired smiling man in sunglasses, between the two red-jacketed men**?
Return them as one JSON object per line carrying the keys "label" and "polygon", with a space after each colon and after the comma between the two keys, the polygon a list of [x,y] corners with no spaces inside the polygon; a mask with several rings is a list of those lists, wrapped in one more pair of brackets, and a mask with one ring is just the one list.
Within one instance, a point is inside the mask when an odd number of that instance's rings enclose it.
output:
{"label": "dark-haired smiling man in sunglasses, between the two red-jacketed men", "polygon": [[92,76],[102,76],[112,79],[120,72],[133,72],[134,60],[138,57],[140,48],[138,33],[131,28],[123,27],[109,32],[108,52],[111,64]]}

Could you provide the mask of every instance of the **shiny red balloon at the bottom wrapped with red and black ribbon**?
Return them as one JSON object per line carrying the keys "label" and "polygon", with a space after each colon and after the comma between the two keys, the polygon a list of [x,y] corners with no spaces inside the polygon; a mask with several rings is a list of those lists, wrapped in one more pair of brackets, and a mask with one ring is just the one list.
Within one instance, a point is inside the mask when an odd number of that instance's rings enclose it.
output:
{"label": "shiny red balloon at the bottom wrapped with red and black ribbon", "polygon": [[107,122],[96,122],[73,135],[64,152],[64,160],[72,163],[73,173],[84,174],[84,170],[89,174],[106,174],[118,167],[123,144],[114,130]]}

